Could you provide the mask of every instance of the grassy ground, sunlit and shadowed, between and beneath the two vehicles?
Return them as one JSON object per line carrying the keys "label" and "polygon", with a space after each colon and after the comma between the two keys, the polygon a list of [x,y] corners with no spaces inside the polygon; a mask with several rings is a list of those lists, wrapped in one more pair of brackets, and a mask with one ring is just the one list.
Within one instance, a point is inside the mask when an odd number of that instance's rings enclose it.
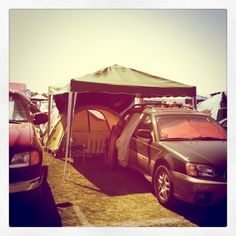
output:
{"label": "grassy ground, sunlit and shadowed, between and beneath the two vehicles", "polygon": [[77,158],[64,181],[64,163],[44,155],[47,181],[41,206],[28,213],[24,209],[21,222],[16,213],[22,214],[22,209],[14,208],[11,226],[226,226],[225,203],[210,208],[179,203],[166,209],[157,202],[150,183],[131,170],[110,171],[102,157],[89,158],[85,166]]}

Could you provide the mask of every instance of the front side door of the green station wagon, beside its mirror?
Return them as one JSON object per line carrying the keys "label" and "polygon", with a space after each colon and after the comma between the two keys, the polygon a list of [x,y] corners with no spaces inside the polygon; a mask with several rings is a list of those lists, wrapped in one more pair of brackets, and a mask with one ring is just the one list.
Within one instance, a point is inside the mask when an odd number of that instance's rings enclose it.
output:
{"label": "front side door of the green station wagon, beside its mirror", "polygon": [[[149,115],[144,115],[133,133],[130,142],[130,163],[133,167],[144,173],[148,173],[149,169],[150,145],[153,142],[152,130],[153,125],[151,117]],[[145,137],[145,135],[141,135],[141,133],[149,133],[151,136]]]}

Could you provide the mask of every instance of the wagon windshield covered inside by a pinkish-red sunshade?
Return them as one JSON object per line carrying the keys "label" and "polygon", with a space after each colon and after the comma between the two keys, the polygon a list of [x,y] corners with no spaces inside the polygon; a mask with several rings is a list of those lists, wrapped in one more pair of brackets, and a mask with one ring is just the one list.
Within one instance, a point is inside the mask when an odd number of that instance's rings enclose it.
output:
{"label": "wagon windshield covered inside by a pinkish-red sunshade", "polygon": [[160,140],[226,140],[224,129],[208,117],[158,117]]}

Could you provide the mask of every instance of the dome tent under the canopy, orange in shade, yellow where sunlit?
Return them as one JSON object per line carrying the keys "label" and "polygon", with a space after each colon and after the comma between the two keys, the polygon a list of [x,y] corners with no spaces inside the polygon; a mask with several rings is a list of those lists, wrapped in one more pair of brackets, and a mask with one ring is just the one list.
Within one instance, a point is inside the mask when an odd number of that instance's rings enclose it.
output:
{"label": "dome tent under the canopy, orange in shade, yellow where sunlit", "polygon": [[[80,107],[75,110],[72,122],[72,145],[85,145],[88,153],[103,153],[106,139],[118,119],[119,115],[106,107]],[[47,148],[54,153],[65,149],[66,122],[66,113],[63,113],[47,140]]]}

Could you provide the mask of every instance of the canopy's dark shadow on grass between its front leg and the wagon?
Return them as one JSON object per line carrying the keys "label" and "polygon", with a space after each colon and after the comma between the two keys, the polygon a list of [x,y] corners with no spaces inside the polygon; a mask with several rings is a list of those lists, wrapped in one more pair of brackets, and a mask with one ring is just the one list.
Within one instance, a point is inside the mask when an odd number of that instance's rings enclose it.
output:
{"label": "canopy's dark shadow on grass between its front leg and the wagon", "polygon": [[103,157],[89,157],[85,165],[81,158],[75,158],[72,166],[109,196],[151,191],[150,183],[143,176],[122,167],[109,170],[104,164]]}

